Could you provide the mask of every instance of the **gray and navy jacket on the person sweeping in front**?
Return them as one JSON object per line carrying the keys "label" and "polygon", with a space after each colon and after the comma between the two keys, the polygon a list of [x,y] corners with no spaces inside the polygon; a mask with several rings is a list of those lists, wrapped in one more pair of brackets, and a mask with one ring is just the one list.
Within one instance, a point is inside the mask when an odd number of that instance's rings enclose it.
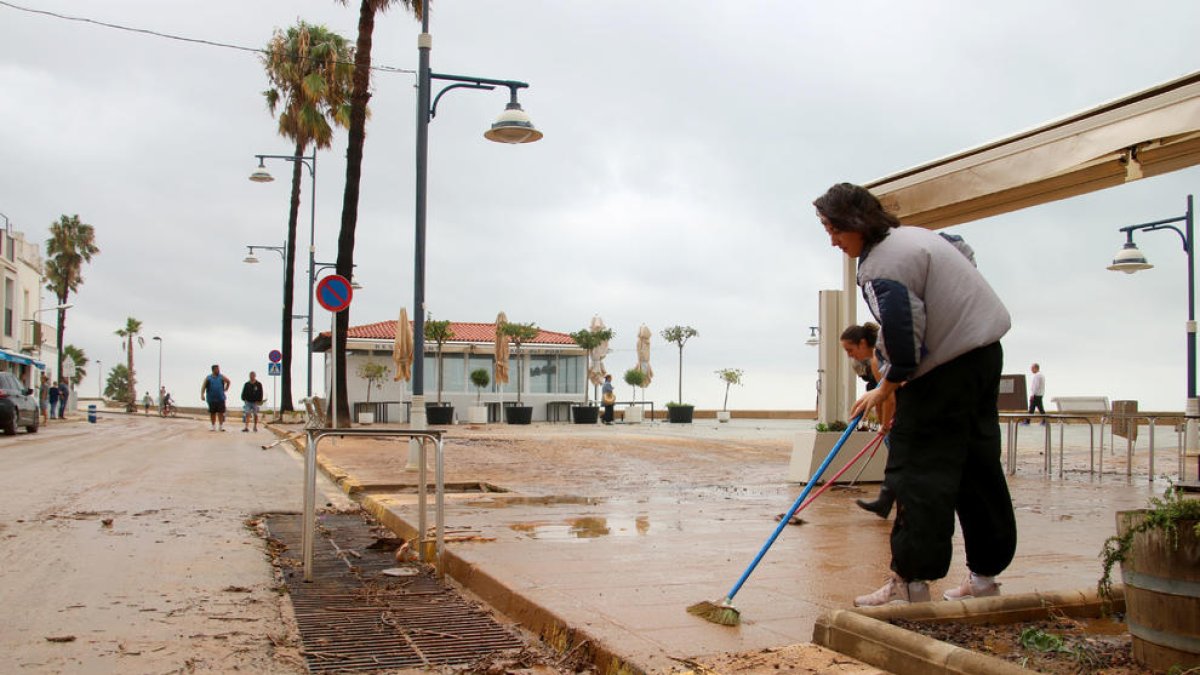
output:
{"label": "gray and navy jacket on the person sweeping in front", "polygon": [[1012,327],[961,237],[893,228],[859,256],[858,286],[880,323],[876,348],[890,382],[920,377]]}

